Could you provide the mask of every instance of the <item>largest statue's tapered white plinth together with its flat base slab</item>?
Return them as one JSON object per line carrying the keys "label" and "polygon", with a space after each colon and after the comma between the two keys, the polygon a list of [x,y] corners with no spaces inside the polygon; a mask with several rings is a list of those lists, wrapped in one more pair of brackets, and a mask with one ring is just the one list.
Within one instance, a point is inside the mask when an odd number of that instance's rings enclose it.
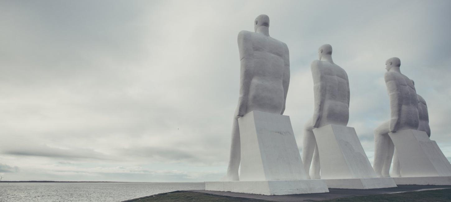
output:
{"label": "largest statue's tapered white plinth together with its flat base slab", "polygon": [[329,192],[322,179],[306,179],[290,117],[251,111],[238,119],[240,181],[206,182],[205,190],[285,195]]}

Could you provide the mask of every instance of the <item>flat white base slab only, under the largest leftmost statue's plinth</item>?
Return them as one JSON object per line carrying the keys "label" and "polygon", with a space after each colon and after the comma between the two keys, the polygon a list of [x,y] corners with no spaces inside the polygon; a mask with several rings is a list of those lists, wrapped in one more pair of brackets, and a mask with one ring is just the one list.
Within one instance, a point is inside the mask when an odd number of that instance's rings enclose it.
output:
{"label": "flat white base slab only, under the largest leftmost statue's plinth", "polygon": [[262,195],[329,192],[323,179],[205,182],[205,190]]}

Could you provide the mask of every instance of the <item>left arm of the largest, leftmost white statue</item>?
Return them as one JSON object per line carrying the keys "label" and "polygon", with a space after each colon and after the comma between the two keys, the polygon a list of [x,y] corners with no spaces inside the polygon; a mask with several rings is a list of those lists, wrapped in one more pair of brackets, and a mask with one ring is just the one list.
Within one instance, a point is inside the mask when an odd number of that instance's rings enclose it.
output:
{"label": "left arm of the largest, leftmost white statue", "polygon": [[249,98],[249,86],[253,78],[253,48],[247,31],[238,34],[238,50],[240,60],[238,116],[246,113],[247,99]]}

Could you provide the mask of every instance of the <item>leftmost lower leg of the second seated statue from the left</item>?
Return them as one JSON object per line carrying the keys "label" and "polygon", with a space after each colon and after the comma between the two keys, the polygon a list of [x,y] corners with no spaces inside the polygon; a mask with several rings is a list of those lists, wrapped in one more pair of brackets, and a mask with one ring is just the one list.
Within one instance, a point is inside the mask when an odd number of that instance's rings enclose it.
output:
{"label": "leftmost lower leg of the second seated statue from the left", "polygon": [[313,152],[315,151],[316,138],[313,134],[312,120],[310,119],[304,125],[304,140],[302,142],[302,163],[307,173],[307,179],[310,179],[310,165],[312,164]]}

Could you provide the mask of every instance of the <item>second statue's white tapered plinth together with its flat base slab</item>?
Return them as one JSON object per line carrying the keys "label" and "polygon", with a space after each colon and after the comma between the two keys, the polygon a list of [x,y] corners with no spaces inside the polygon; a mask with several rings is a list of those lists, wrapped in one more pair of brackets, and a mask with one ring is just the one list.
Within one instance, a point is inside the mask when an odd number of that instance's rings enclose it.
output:
{"label": "second statue's white tapered plinth together with its flat base slab", "polygon": [[391,178],[377,178],[354,128],[325,125],[313,129],[318,144],[321,179],[329,188],[396,187]]}

